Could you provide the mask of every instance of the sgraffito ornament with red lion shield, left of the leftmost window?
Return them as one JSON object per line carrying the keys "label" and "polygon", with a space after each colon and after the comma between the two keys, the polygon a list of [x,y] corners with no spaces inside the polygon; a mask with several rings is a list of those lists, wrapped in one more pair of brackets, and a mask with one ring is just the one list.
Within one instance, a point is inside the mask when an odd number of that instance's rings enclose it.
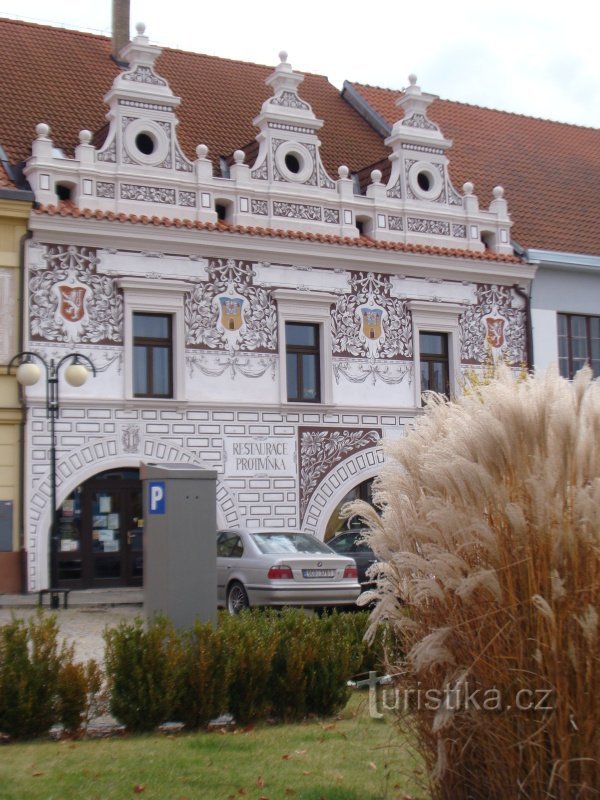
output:
{"label": "sgraffito ornament with red lion shield, left of the leftmost window", "polygon": [[99,275],[94,248],[41,245],[42,264],[29,270],[32,340],[87,344],[123,341],[123,296]]}

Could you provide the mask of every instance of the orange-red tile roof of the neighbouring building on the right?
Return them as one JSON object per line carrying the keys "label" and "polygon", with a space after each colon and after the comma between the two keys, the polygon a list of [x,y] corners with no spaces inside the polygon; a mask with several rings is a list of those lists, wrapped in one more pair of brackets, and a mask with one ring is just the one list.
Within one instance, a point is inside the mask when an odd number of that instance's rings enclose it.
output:
{"label": "orange-red tile roof of the neighbouring building on the right", "polygon": [[[353,83],[393,125],[398,92]],[[435,87],[426,87],[435,88]],[[600,255],[600,130],[435,100],[428,117],[452,139],[450,175],[459,191],[475,184],[481,207],[503,186],[524,247]]]}

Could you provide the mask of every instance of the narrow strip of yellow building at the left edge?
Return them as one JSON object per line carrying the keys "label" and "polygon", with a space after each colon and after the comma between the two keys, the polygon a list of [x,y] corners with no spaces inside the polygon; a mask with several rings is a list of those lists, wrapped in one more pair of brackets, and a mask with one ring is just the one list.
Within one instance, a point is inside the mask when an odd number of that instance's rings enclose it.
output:
{"label": "narrow strip of yellow building at the left edge", "polygon": [[19,191],[0,161],[0,592],[20,591],[23,411],[6,366],[20,347],[22,241],[33,195]]}

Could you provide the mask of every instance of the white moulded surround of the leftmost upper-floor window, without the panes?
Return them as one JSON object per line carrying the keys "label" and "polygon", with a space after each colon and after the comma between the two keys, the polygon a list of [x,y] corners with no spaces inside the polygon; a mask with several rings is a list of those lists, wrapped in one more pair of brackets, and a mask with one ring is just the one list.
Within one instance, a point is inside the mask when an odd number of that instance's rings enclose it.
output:
{"label": "white moulded surround of the leftmost upper-floor window, without the panes", "polygon": [[[124,277],[117,284],[123,290],[123,358],[125,398],[141,403],[172,403],[185,398],[185,327],[183,297],[187,287],[181,281]],[[133,394],[133,315],[168,314],[172,318],[172,397],[134,397]]]}

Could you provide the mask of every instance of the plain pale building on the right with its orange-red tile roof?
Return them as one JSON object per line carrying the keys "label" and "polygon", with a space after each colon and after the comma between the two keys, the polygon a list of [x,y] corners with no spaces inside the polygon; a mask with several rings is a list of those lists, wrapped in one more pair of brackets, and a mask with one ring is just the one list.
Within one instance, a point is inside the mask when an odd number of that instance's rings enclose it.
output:
{"label": "plain pale building on the right with its orange-red tile roof", "polygon": [[[388,136],[397,94],[346,83],[345,99]],[[572,378],[600,375],[600,130],[531,119],[448,100],[431,117],[453,140],[451,174],[510,200],[516,252],[537,265],[530,297],[531,359]],[[494,169],[490,170],[490,154]]]}

